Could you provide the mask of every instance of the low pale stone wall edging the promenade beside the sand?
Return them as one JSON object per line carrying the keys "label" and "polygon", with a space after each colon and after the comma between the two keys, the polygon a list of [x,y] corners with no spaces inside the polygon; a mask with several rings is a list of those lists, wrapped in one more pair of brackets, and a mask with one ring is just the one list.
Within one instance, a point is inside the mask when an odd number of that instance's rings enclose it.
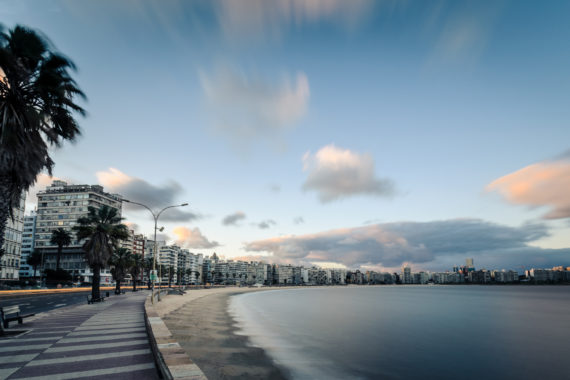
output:
{"label": "low pale stone wall edging the promenade beside the sand", "polygon": [[[167,292],[162,294],[166,295],[165,293]],[[208,380],[158,316],[151,297],[149,295],[144,303],[144,316],[152,353],[161,377],[165,380]]]}

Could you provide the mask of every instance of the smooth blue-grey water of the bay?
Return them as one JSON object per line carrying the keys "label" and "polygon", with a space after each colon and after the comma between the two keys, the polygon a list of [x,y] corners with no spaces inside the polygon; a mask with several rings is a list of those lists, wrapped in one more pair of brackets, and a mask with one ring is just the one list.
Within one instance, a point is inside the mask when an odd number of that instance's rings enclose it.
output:
{"label": "smooth blue-grey water of the bay", "polygon": [[570,379],[568,286],[360,286],[232,297],[294,379]]}

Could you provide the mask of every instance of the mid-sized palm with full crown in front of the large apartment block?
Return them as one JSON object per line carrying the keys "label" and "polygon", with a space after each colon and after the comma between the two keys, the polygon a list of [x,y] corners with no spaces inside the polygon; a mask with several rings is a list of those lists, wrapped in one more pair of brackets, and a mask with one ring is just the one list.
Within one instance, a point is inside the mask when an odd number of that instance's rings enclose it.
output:
{"label": "mid-sized palm with full crown in front of the large apartment block", "polygon": [[100,209],[88,207],[87,216],[77,219],[73,229],[77,233],[77,240],[87,239],[83,244],[83,251],[87,263],[93,270],[93,284],[91,297],[101,298],[99,286],[101,284],[101,268],[104,268],[113,255],[119,240],[129,236],[127,226],[121,223],[122,218],[117,215],[117,209],[102,206]]}

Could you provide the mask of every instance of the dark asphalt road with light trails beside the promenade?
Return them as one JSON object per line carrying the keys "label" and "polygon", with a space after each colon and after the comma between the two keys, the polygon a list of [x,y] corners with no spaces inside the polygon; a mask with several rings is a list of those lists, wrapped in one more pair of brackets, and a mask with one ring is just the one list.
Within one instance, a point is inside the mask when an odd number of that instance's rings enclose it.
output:
{"label": "dark asphalt road with light trails beside the promenade", "polygon": [[[101,293],[104,294],[105,291],[101,291]],[[87,303],[88,294],[90,294],[89,291],[79,293],[57,293],[10,297],[0,299],[0,307],[20,305],[20,310],[22,310],[22,313],[38,314],[60,307],[76,305],[78,303]],[[114,297],[113,291],[109,291],[109,295],[111,297]]]}

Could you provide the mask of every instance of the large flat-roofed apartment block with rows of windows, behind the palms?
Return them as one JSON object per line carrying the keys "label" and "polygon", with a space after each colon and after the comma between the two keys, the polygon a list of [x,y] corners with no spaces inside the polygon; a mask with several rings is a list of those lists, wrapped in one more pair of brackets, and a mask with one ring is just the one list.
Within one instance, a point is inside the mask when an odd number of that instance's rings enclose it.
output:
{"label": "large flat-roofed apartment block with rows of windows, behind the palms", "polygon": [[[83,242],[77,240],[72,230],[77,219],[88,215],[88,207],[99,209],[109,206],[121,216],[122,197],[103,191],[99,185],[68,185],[53,181],[38,193],[35,249],[44,253],[46,269],[56,269],[57,246],[50,243],[52,231],[63,228],[71,235],[71,244],[63,248],[60,266],[70,272],[74,280],[92,281],[92,272],[83,252]],[[111,282],[108,269],[101,271],[101,283]]]}

